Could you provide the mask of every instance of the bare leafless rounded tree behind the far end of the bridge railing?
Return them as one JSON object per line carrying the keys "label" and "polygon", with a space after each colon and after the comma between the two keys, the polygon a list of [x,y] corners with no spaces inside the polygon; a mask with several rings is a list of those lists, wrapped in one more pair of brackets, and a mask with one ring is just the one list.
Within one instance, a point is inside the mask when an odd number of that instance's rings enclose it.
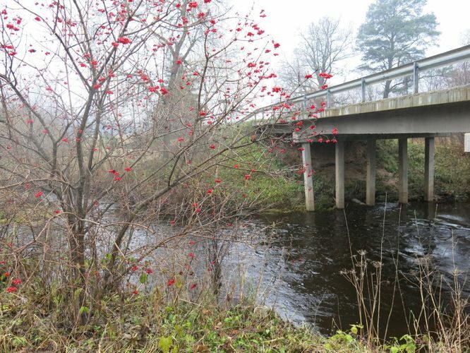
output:
{"label": "bare leafless rounded tree behind the far end of the bridge railing", "polygon": [[[341,73],[339,62],[351,56],[351,28],[342,28],[339,19],[325,17],[311,23],[301,38],[294,59],[282,64],[280,77],[286,89],[312,92],[325,85],[320,73]],[[315,80],[306,80],[308,74],[314,74]]]}

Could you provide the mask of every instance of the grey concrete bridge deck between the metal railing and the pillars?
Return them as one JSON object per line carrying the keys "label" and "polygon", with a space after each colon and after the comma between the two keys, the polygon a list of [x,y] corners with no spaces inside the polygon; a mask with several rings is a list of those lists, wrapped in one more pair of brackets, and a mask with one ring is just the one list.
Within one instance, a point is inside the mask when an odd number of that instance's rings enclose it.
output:
{"label": "grey concrete bridge deck between the metal railing and the pillars", "polygon": [[[339,138],[399,138],[438,136],[442,133],[470,131],[470,86],[393,97],[330,108],[319,119],[303,119],[303,128],[294,140],[312,139],[310,126],[317,133],[330,133],[337,128]],[[261,124],[260,130],[291,134],[291,124]],[[313,138],[315,141],[316,138]]]}

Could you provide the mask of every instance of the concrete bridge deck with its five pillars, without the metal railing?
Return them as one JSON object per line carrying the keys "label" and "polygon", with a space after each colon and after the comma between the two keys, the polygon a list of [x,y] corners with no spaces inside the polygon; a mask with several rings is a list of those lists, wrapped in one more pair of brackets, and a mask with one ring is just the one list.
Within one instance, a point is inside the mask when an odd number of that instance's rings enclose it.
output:
{"label": "concrete bridge deck with its five pillars, without the metal railing", "polygon": [[[419,99],[417,99],[419,98]],[[415,104],[414,104],[415,103]],[[421,105],[426,104],[426,105]],[[311,143],[332,137],[335,143],[336,206],[344,208],[344,142],[367,141],[366,204],[375,203],[376,140],[395,138],[399,141],[399,202],[408,203],[407,139],[425,139],[424,200],[434,198],[434,138],[450,133],[470,132],[470,88],[457,88],[378,102],[354,104],[330,109],[320,119],[302,119],[300,131],[292,124],[265,124],[260,134],[291,136],[303,147],[306,208],[315,210],[311,172]],[[311,126],[315,125],[315,129]]]}

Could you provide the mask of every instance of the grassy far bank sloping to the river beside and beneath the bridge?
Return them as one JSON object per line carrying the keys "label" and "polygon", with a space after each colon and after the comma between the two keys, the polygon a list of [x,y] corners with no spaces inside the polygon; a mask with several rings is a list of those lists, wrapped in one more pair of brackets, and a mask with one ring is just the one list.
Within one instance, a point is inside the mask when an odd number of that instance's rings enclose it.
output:
{"label": "grassy far bank sloping to the river beside and beneath the bridge", "polygon": [[[248,142],[248,138],[247,141]],[[318,150],[316,150],[318,149]],[[347,201],[366,197],[366,148],[363,143],[347,145],[345,197]],[[328,210],[335,207],[335,157],[334,145],[313,147],[313,189],[315,208]],[[424,146],[422,140],[409,140],[409,200],[423,198]],[[378,140],[377,181],[378,201],[398,198],[398,144],[397,140]],[[149,177],[152,166],[149,162],[135,175],[136,180]],[[269,141],[247,145],[241,150],[227,151],[217,168],[207,170],[198,180],[191,181],[180,189],[171,191],[167,205],[176,208],[188,200],[188,195],[200,198],[208,189],[214,188],[223,196],[231,208],[263,213],[304,211],[303,170],[301,153],[297,145],[278,144]],[[155,181],[148,193],[155,188]],[[469,197],[470,156],[457,143],[436,143],[435,146],[435,196],[437,201],[465,201]],[[188,193],[188,190],[190,191]],[[200,191],[200,195],[196,194]],[[137,196],[136,196],[137,197]],[[191,203],[194,201],[191,201]],[[242,206],[242,209],[240,208]],[[172,211],[171,211],[172,212]],[[169,212],[169,213],[171,213]],[[170,216],[169,216],[170,217]],[[171,216],[173,217],[173,216]],[[176,216],[175,216],[176,217]]]}

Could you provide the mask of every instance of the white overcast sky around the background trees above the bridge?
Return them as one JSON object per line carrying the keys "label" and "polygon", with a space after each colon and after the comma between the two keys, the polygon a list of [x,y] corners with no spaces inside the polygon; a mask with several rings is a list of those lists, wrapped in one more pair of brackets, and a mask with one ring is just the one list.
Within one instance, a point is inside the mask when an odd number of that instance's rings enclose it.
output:
{"label": "white overcast sky around the background trees above the bridge", "polygon": [[[288,58],[299,43],[299,31],[318,18],[329,16],[340,18],[344,27],[357,29],[366,18],[369,4],[373,0],[229,0],[241,14],[247,13],[254,4],[252,18],[258,18],[264,9],[266,18],[259,18],[260,27],[281,44],[279,57]],[[428,0],[425,12],[433,12],[438,18],[441,35],[435,47],[428,49],[426,56],[447,52],[462,46],[462,35],[470,30],[470,0]],[[360,56],[351,61],[358,64]],[[276,64],[273,62],[273,64]],[[358,74],[342,78],[352,80]]]}

